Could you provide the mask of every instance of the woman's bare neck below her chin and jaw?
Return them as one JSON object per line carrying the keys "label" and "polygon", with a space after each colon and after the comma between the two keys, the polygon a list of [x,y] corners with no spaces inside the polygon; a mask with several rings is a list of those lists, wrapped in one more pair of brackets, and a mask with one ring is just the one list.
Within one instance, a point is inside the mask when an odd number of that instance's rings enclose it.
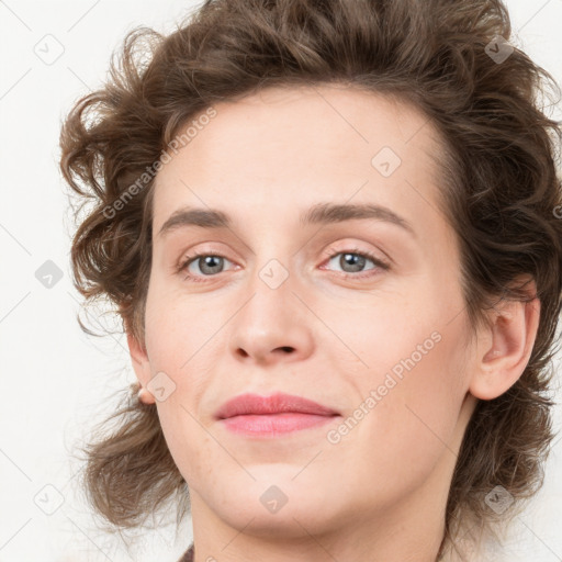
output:
{"label": "woman's bare neck below her chin and jaw", "polygon": [[384,513],[339,515],[322,531],[294,514],[276,526],[256,525],[256,518],[236,528],[192,494],[194,562],[437,562],[447,490],[436,497],[428,486],[432,495],[420,494],[416,505],[408,498]]}

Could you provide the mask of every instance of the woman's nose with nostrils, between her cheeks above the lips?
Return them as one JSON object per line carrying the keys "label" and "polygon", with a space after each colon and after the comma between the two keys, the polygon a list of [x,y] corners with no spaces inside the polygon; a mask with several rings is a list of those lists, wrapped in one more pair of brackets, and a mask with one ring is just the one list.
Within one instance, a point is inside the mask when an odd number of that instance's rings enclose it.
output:
{"label": "woman's nose with nostrils, between her cheeks above the lips", "polygon": [[229,351],[237,361],[265,366],[310,357],[315,317],[296,284],[291,276],[279,286],[256,276],[231,326]]}

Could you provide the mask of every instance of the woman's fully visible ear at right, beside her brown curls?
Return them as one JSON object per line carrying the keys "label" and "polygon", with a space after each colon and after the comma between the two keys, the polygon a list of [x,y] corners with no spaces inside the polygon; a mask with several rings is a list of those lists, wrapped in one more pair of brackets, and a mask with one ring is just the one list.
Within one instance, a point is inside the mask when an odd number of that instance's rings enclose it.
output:
{"label": "woman's fully visible ear at right, beside her brown curls", "polygon": [[530,302],[502,300],[491,313],[491,326],[479,338],[475,369],[469,390],[481,400],[501,396],[521,376],[535,345],[540,301],[528,281]]}

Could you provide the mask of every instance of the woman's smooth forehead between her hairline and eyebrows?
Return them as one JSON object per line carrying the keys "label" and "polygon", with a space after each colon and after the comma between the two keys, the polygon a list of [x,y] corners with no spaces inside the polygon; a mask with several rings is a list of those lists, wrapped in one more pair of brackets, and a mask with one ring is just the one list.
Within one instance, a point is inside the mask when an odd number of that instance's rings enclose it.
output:
{"label": "woman's smooth forehead between her hairline and eyebrows", "polygon": [[155,233],[183,205],[267,222],[267,209],[296,221],[317,201],[407,212],[408,201],[437,196],[438,136],[411,104],[324,86],[272,88],[213,108],[156,177]]}

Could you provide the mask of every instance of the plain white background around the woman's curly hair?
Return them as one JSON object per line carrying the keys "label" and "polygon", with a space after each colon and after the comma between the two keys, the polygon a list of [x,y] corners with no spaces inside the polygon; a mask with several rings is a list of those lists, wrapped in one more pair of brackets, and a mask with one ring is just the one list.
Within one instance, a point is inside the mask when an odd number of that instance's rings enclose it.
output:
{"label": "plain white background around the woman's curly hair", "polygon": [[[518,37],[512,42],[560,83],[562,0],[507,4]],[[175,562],[191,542],[187,521],[177,541],[161,527],[143,532],[127,552],[119,536],[97,528],[74,487],[77,440],[114,407],[115,391],[134,374],[124,336],[87,337],[76,321],[79,297],[69,278],[74,225],[57,159],[64,115],[78,97],[101,85],[126,31],[145,24],[169,32],[194,5],[188,0],[0,0],[0,562]],[[34,52],[47,34],[64,48],[52,65]],[[561,119],[560,105],[553,115]],[[63,271],[50,289],[35,278],[46,260]],[[560,381],[560,357],[557,364]],[[560,407],[555,420],[558,429]],[[562,561],[561,476],[559,438],[543,490],[516,520],[495,561]],[[34,502],[37,494],[56,499],[46,485],[64,497],[53,515]]]}

